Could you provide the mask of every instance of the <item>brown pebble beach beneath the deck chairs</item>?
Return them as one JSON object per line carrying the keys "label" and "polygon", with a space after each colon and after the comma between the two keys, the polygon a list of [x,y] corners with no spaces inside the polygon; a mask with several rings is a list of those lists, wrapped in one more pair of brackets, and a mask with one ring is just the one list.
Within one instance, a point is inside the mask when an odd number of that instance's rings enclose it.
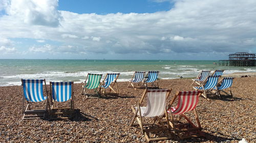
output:
{"label": "brown pebble beach beneath the deck chairs", "polygon": [[[139,127],[129,126],[131,105],[144,89],[127,88],[128,83],[118,82],[120,94],[90,99],[80,95],[81,83],[74,84],[75,111],[67,120],[49,116],[22,120],[22,86],[0,87],[0,142],[146,142]],[[169,102],[177,91],[193,90],[191,83],[191,79],[161,79],[159,87],[172,89]],[[197,112],[205,137],[181,140],[172,133],[172,139],[158,142],[238,142],[242,138],[256,142],[256,77],[235,78],[231,90],[232,97],[222,93],[221,99],[199,99]],[[45,102],[33,106],[44,108]]]}

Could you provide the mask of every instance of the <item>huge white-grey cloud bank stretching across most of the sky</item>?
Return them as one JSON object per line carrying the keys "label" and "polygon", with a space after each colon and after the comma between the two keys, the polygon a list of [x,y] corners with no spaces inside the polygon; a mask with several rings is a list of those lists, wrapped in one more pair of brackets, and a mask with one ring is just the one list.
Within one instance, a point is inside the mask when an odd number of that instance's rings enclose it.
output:
{"label": "huge white-grey cloud bank stretching across most of the sky", "polygon": [[[169,11],[99,15],[57,11],[57,1],[12,1],[8,15],[0,17],[2,41],[11,45],[11,38],[50,40],[58,44],[27,48],[31,52],[75,53],[81,58],[84,53],[119,54],[121,58],[128,53],[139,58],[142,54],[158,58],[166,53],[169,58],[170,54],[187,58],[190,54],[256,52],[255,1],[170,2],[174,6]],[[1,38],[0,46],[7,47]]]}

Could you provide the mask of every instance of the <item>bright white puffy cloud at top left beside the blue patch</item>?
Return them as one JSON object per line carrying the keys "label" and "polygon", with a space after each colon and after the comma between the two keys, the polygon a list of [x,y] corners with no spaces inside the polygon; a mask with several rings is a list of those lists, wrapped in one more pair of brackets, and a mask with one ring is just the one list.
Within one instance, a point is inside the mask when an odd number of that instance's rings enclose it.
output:
{"label": "bright white puffy cloud at top left beside the blue patch", "polygon": [[61,19],[57,11],[58,0],[12,0],[5,3],[6,12],[27,24],[58,26]]}

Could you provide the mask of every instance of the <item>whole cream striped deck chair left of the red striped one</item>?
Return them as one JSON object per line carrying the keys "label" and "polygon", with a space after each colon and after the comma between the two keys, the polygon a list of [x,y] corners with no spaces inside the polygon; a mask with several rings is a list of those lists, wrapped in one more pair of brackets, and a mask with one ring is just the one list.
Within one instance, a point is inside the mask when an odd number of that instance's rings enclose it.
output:
{"label": "whole cream striped deck chair left of the red striped one", "polygon": [[[163,139],[169,139],[169,120],[167,116],[167,110],[166,110],[166,99],[168,98],[171,90],[145,90],[137,107],[132,106],[132,110],[134,112],[134,116],[132,118],[132,121],[130,123],[130,126],[133,125],[139,125],[142,131],[142,134],[145,135],[145,138],[147,141],[152,140],[163,140]],[[147,97],[147,106],[141,107],[141,104],[143,102],[143,99]],[[163,124],[162,119],[159,117],[162,117],[165,115],[165,119],[167,121],[167,126],[165,127]],[[154,123],[143,123],[142,118],[154,118]],[[137,120],[138,124],[134,124],[135,119]],[[151,128],[151,126],[156,125],[155,121],[158,120],[160,123],[160,127],[158,128]],[[147,129],[145,129],[145,126],[147,126]],[[166,137],[158,137],[158,138],[150,138],[148,136],[148,133],[150,132],[159,132],[159,131],[166,131],[167,136]]]}

